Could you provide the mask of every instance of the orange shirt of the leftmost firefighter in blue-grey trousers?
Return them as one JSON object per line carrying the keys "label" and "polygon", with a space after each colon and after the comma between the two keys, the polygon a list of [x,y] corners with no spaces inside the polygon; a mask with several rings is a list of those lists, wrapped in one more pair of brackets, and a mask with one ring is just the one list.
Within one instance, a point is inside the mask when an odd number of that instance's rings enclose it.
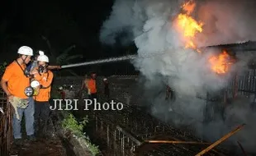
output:
{"label": "orange shirt of the leftmost firefighter in blue-grey trousers", "polygon": [[7,89],[10,94],[21,99],[27,99],[24,90],[30,86],[29,78],[24,75],[25,68],[25,65],[19,65],[14,61],[6,68],[2,76],[2,80],[7,80]]}

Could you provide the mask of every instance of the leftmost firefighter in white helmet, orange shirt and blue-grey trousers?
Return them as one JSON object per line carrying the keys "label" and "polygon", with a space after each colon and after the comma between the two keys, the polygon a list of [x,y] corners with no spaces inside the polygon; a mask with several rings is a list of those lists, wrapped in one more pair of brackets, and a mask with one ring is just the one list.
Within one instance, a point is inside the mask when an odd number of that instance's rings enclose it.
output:
{"label": "leftmost firefighter in white helmet, orange shirt and blue-grey trousers", "polygon": [[24,93],[24,90],[30,84],[30,77],[25,71],[26,64],[31,61],[31,56],[33,56],[33,50],[30,47],[22,46],[17,53],[19,57],[4,71],[1,85],[15,109],[12,122],[14,143],[21,145],[21,119],[23,114],[26,120],[26,135],[30,140],[36,139],[34,135],[34,103]]}

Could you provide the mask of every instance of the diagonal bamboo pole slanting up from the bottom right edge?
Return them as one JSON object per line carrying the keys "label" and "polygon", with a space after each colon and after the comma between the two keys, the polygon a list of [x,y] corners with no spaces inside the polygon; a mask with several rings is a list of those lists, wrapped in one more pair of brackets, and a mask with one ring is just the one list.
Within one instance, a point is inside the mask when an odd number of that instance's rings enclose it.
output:
{"label": "diagonal bamboo pole slanting up from the bottom right edge", "polygon": [[206,154],[206,152],[208,152],[209,150],[213,149],[216,145],[219,145],[220,143],[222,143],[223,141],[225,141],[226,139],[228,139],[231,135],[234,135],[237,131],[241,130],[244,127],[245,124],[238,126],[237,128],[235,128],[235,130],[230,131],[230,133],[224,135],[222,138],[220,138],[220,140],[217,140],[215,143],[213,143],[212,145],[208,146],[206,149],[203,149],[200,153],[198,153],[196,156],[201,156],[203,154]]}

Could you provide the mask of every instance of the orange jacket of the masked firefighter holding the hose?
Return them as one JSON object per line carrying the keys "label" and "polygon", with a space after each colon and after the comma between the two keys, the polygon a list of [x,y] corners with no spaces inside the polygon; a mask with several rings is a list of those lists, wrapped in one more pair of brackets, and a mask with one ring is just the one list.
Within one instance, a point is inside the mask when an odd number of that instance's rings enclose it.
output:
{"label": "orange jacket of the masked firefighter holding the hose", "polygon": [[36,74],[34,76],[35,80],[38,80],[40,82],[40,85],[42,85],[42,88],[40,89],[40,92],[38,95],[34,97],[36,101],[45,102],[49,101],[50,99],[50,89],[51,89],[51,83],[54,78],[54,74],[52,71],[48,70],[46,73]]}

